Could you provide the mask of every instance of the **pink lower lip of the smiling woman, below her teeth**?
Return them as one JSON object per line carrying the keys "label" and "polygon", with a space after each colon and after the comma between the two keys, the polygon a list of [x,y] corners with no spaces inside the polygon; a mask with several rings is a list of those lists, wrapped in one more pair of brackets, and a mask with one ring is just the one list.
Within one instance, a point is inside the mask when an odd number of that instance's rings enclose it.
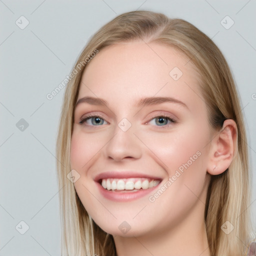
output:
{"label": "pink lower lip of the smiling woman, below her teeth", "polygon": [[97,185],[100,193],[105,198],[113,200],[113,201],[131,201],[131,200],[138,199],[138,198],[143,197],[143,196],[147,195],[148,193],[152,192],[156,187],[158,187],[159,184],[157,184],[156,186],[147,188],[147,189],[139,189],[138,191],[135,191],[135,192],[128,192],[128,190],[125,190],[125,192],[122,192],[122,191],[116,192],[116,191],[112,191],[112,190],[107,190],[104,187],[102,187],[98,182],[96,182],[96,185]]}

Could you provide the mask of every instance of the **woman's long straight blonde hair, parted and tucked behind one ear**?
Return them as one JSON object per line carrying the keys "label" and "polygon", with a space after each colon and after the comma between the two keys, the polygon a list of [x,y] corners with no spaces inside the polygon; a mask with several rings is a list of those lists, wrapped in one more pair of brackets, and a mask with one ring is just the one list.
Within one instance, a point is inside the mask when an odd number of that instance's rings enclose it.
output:
{"label": "woman's long straight blonde hair, parted and tucked behind one ear", "polygon": [[[75,68],[91,52],[118,42],[144,40],[175,47],[188,56],[198,70],[209,127],[220,129],[225,119],[237,125],[237,152],[226,171],[212,175],[205,202],[205,227],[211,255],[244,255],[252,227],[250,213],[251,174],[241,107],[228,64],[213,41],[191,23],[168,18],[152,11],[123,13],[101,27],[78,57]],[[74,105],[82,72],[87,63],[68,82],[62,103],[56,141],[57,176],[61,217],[61,255],[116,255],[112,235],[104,232],[88,215],[70,172],[69,151]],[[229,221],[233,230],[226,234],[221,225]]]}

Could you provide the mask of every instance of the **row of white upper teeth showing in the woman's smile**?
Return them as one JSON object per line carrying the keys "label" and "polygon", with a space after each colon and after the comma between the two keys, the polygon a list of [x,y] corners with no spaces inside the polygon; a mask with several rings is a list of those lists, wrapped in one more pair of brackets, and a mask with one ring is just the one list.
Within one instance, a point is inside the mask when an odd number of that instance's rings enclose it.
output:
{"label": "row of white upper teeth showing in the woman's smile", "polygon": [[133,190],[147,189],[158,185],[160,180],[150,178],[103,178],[101,181],[102,187],[107,190]]}

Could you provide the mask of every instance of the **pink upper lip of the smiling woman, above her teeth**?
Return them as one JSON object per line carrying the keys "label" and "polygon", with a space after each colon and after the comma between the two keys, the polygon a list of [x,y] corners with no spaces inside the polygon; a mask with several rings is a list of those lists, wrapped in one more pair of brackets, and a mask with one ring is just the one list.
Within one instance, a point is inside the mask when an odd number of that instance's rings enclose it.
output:
{"label": "pink upper lip of the smiling woman, above her teeth", "polygon": [[94,181],[99,182],[103,178],[151,178],[155,180],[162,180],[162,178],[154,175],[138,173],[134,171],[105,171],[97,174],[94,177]]}

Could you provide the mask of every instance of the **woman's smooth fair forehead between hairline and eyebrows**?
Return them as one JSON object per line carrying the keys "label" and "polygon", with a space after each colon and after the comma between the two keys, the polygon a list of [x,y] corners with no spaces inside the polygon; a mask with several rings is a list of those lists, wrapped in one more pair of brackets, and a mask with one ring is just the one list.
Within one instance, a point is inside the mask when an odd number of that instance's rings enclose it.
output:
{"label": "woman's smooth fair forehead between hairline and eyebrows", "polygon": [[179,50],[144,41],[124,42],[100,50],[90,60],[78,98],[97,96],[128,106],[141,97],[171,96],[193,107],[193,101],[202,98],[198,81],[195,66]]}

